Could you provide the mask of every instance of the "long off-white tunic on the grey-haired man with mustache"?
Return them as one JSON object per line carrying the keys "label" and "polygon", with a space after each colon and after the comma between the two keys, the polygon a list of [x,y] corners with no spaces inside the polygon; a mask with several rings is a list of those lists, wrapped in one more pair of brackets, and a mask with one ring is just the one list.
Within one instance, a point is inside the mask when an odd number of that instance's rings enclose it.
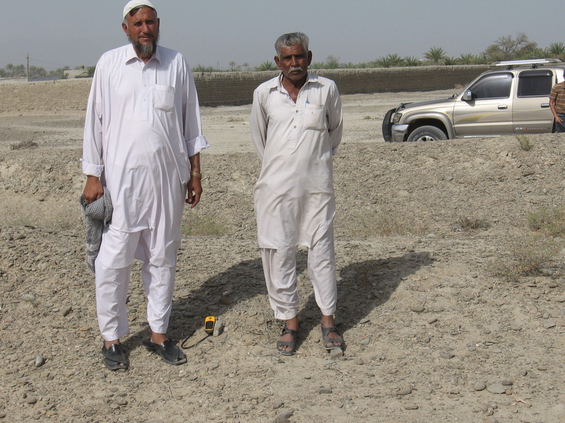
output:
{"label": "long off-white tunic on the grey-haired man with mustache", "polygon": [[293,102],[281,75],[259,85],[251,137],[261,173],[254,188],[261,248],[312,247],[335,215],[332,153],[343,112],[335,82],[308,74]]}

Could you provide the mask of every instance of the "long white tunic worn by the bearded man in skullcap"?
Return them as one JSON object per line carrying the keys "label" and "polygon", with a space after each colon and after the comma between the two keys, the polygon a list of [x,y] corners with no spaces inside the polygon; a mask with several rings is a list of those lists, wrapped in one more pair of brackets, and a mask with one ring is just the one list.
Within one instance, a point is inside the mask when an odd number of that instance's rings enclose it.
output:
{"label": "long white tunic worn by the bearded man in skullcap", "polygon": [[157,47],[143,63],[128,44],[102,55],[88,98],[83,173],[109,189],[117,231],[158,228],[156,265],[174,263],[165,256],[180,239],[189,157],[207,147],[181,54]]}

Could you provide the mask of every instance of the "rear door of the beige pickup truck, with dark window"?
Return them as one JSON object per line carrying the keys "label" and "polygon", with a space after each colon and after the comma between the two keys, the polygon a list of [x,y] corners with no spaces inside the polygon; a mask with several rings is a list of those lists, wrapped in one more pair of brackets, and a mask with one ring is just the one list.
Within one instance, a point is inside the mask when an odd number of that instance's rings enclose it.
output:
{"label": "rear door of the beige pickup truck, with dark window", "polygon": [[549,109],[549,92],[554,85],[550,70],[534,69],[518,75],[518,90],[514,95],[512,117],[514,133],[550,133],[553,114]]}

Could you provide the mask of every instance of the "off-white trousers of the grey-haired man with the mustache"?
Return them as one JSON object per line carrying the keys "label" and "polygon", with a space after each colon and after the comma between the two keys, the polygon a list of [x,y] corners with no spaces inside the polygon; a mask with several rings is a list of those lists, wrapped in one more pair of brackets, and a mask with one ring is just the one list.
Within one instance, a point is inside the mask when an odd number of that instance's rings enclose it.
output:
{"label": "off-white trousers of the grey-haired man with the mustache", "polygon": [[[275,319],[288,320],[298,314],[296,250],[296,247],[261,248],[263,273]],[[308,276],[322,314],[334,314],[337,309],[338,286],[335,278],[333,226],[308,249]]]}

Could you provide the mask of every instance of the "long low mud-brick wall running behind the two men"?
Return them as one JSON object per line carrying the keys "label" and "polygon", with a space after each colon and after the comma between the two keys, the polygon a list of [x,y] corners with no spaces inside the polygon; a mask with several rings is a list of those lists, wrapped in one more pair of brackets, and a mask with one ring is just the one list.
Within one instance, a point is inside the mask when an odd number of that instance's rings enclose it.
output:
{"label": "long low mud-brick wall running behind the two men", "polygon": [[[462,87],[488,66],[323,69],[342,94],[431,91]],[[250,104],[253,91],[278,71],[194,73],[202,106]],[[0,83],[0,113],[85,110],[92,79]]]}

